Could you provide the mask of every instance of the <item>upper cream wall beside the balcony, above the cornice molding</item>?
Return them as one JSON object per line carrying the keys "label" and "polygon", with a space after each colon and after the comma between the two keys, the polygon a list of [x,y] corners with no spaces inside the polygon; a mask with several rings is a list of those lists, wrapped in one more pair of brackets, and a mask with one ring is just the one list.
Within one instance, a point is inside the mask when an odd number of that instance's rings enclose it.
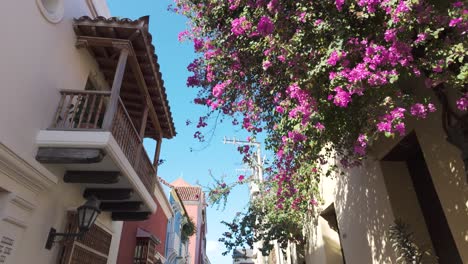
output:
{"label": "upper cream wall beside the balcony, above the cornice molding", "polygon": [[84,89],[96,68],[75,48],[72,19],[89,15],[86,0],[64,3],[58,24],[42,16],[36,1],[3,0],[0,9],[0,142],[37,167],[35,137],[51,124],[59,90]]}

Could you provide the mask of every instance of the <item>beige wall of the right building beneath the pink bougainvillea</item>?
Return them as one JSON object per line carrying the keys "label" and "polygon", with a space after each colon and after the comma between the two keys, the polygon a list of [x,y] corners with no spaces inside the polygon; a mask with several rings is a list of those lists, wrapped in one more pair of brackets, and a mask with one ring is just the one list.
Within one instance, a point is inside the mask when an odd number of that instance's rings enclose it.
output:
{"label": "beige wall of the right building beneath the pink bougainvillea", "polygon": [[[420,82],[405,85],[416,86],[421,98],[433,96]],[[468,184],[460,151],[445,141],[441,106],[436,106],[438,111],[425,120],[408,119],[407,130],[417,135],[458,252],[463,263],[468,263]],[[411,225],[417,243],[432,247],[427,229],[415,222],[424,218],[406,165],[381,161],[399,140],[400,137],[380,139],[370,149],[363,166],[322,181],[324,207],[335,202],[346,263],[396,263],[388,240],[389,226],[395,217],[404,218]],[[329,263],[326,250],[321,250],[326,244],[323,228],[319,220],[315,251],[309,254],[307,263]]]}

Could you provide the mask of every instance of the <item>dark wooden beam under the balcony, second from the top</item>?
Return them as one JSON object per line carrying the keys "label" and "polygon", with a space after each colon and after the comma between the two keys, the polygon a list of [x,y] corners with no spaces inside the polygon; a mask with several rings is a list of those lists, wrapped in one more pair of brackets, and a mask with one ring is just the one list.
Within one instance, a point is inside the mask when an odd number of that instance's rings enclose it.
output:
{"label": "dark wooden beam under the balcony, second from the top", "polygon": [[119,171],[66,171],[66,183],[113,184],[120,180]]}

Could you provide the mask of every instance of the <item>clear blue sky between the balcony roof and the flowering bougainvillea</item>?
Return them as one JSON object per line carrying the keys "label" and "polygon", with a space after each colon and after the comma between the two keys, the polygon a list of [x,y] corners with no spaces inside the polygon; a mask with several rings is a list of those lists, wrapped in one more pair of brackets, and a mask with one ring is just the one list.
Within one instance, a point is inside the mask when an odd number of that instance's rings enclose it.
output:
{"label": "clear blue sky between the balcony roof and the flowering bougainvillea", "polygon": [[[191,43],[179,43],[177,39],[179,32],[186,29],[186,19],[167,11],[172,0],[107,0],[107,3],[113,16],[136,19],[150,15],[150,32],[177,130],[175,138],[162,143],[161,158],[165,162],[159,167],[159,176],[169,182],[183,176],[189,183],[206,186],[212,182],[208,173],[211,170],[215,176],[227,175],[230,181],[235,181],[245,173],[236,171],[243,167],[241,156],[236,146],[222,143],[223,137],[245,139],[247,135],[226,122],[217,126],[209,144],[201,144],[193,138],[195,126],[185,124],[187,119],[195,121],[206,110],[192,103],[197,90],[186,86],[187,65],[196,57]],[[145,146],[153,153],[153,142],[145,141]],[[220,221],[231,220],[247,201],[248,190],[243,186],[233,191],[224,211],[208,208],[207,252],[211,263],[232,263],[230,255],[221,255],[224,247],[217,242],[225,231]]]}

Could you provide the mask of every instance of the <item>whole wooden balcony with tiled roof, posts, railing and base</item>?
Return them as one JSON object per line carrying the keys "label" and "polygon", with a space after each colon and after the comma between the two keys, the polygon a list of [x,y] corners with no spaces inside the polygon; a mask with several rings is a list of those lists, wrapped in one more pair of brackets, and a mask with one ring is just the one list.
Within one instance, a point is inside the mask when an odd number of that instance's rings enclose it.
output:
{"label": "whole wooden balcony with tiled roof, posts, railing and base", "polygon": [[[81,17],[76,47],[86,49],[105,79],[101,90],[62,90],[52,125],[37,136],[36,159],[64,171],[65,183],[96,196],[114,220],[143,220],[156,210],[163,138],[175,136],[148,17]],[[154,162],[143,138],[156,141]]]}

